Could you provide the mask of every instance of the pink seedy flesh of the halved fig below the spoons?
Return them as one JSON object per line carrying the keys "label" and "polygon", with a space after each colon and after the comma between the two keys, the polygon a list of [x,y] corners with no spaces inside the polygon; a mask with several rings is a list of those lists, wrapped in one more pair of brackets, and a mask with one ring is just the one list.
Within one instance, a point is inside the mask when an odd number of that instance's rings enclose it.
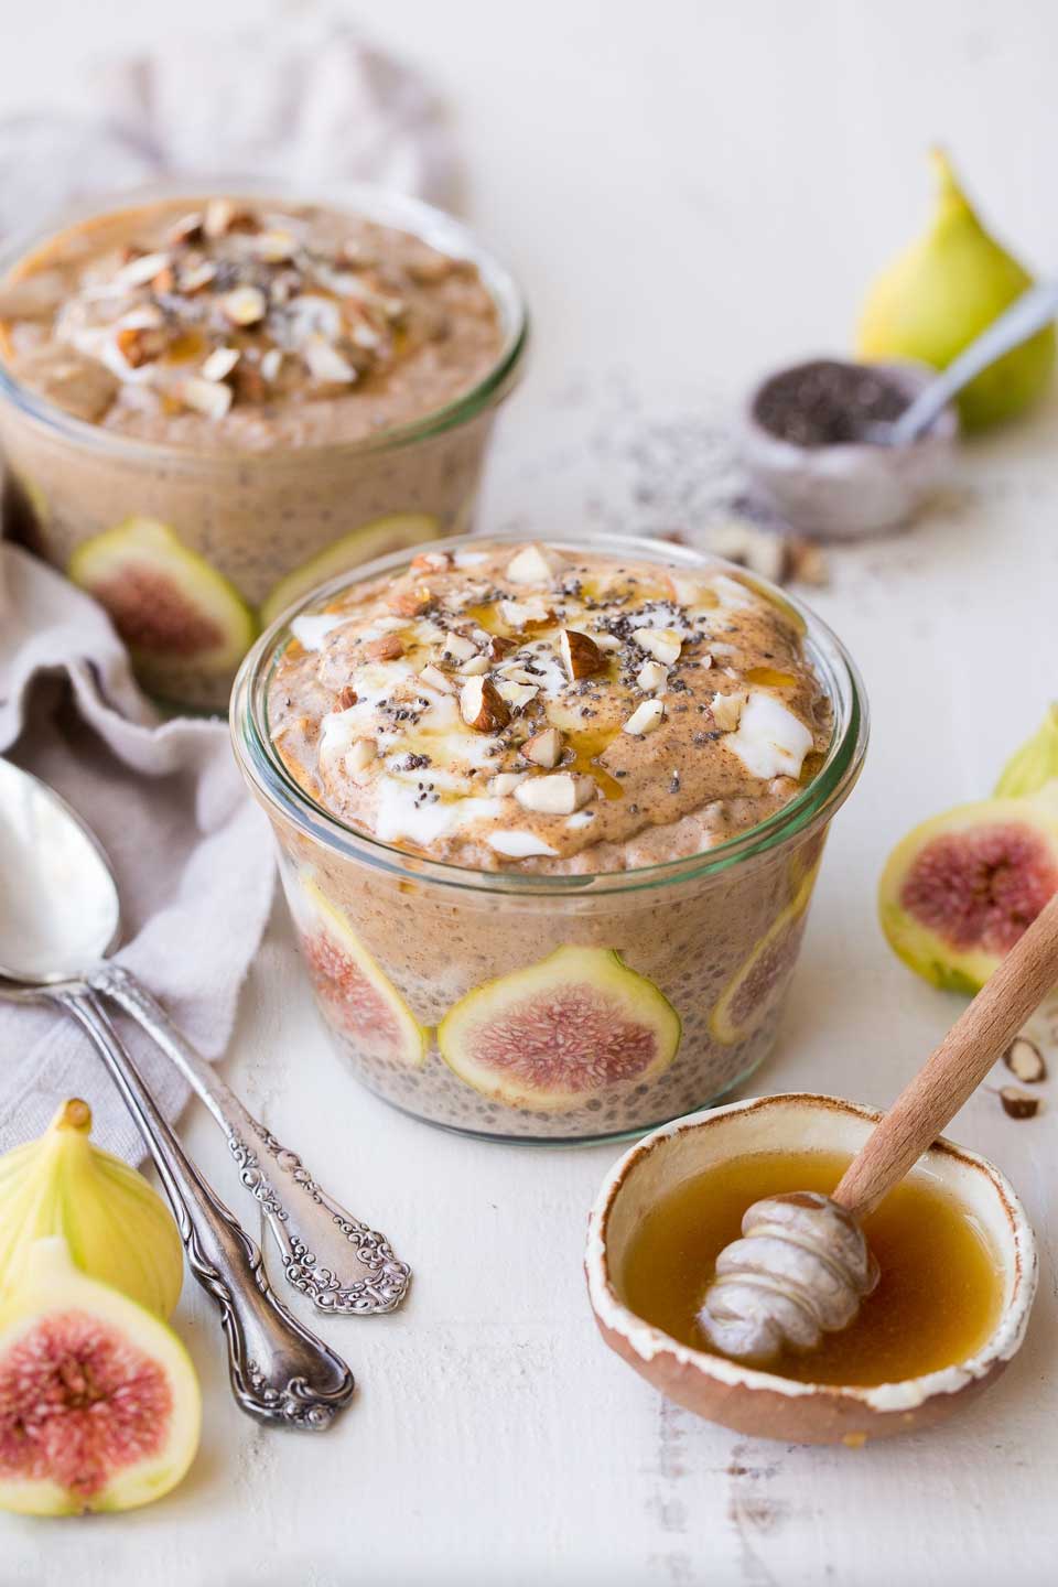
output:
{"label": "pink seedy flesh of the halved fig below the spoons", "polygon": [[52,1312],[0,1358],[0,1479],[90,1500],[160,1452],[171,1411],[157,1362],[87,1312]]}

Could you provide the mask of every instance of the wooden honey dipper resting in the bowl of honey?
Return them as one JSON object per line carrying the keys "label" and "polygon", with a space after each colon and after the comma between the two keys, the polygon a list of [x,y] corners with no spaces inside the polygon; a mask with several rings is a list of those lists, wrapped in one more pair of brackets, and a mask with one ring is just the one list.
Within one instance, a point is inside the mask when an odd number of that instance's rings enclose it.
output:
{"label": "wooden honey dipper resting in the bowl of honey", "polygon": [[765,1363],[845,1328],[879,1279],[860,1227],[937,1138],[1058,982],[1058,893],[904,1087],[833,1197],[755,1201],[717,1257],[698,1322],[714,1349]]}

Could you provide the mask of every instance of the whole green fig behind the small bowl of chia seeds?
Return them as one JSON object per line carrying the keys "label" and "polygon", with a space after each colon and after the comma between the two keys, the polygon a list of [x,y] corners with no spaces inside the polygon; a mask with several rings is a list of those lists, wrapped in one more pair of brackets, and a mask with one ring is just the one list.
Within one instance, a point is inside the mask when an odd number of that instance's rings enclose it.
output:
{"label": "whole green fig behind the small bowl of chia seeds", "polygon": [[[864,359],[915,359],[945,368],[1033,278],[980,224],[947,156],[934,149],[937,208],[931,229],[874,281],[857,351]],[[979,375],[958,397],[968,430],[1010,419],[1047,387],[1055,327],[1047,325]]]}

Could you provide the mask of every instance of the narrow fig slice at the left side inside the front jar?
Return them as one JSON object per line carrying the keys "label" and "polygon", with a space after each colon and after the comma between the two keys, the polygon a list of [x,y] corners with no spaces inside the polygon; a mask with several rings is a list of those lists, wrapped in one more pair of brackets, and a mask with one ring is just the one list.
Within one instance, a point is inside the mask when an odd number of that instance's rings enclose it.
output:
{"label": "narrow fig slice at the left side inside the front jar", "polygon": [[344,914],[305,878],[309,909],[297,909],[301,952],[316,995],[332,1022],[374,1059],[409,1068],[427,1062],[430,1033],[424,1030],[378,959],[363,946]]}

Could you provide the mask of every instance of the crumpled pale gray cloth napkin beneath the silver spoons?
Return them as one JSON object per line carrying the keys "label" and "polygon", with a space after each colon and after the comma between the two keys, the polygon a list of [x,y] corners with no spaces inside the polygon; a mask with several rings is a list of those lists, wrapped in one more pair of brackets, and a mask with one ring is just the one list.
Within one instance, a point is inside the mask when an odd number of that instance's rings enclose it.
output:
{"label": "crumpled pale gray cloth napkin beneath the silver spoons", "polygon": [[[81,814],[106,849],[125,963],[216,1059],[268,919],[268,824],[235,767],[225,722],[162,722],[102,608],[52,568],[0,544],[0,752]],[[0,878],[0,889],[3,878]],[[119,1020],[167,1117],[187,1087]],[[95,1139],[138,1162],[143,1144],[87,1038],[51,1008],[0,1003],[0,1149],[84,1097]]]}

